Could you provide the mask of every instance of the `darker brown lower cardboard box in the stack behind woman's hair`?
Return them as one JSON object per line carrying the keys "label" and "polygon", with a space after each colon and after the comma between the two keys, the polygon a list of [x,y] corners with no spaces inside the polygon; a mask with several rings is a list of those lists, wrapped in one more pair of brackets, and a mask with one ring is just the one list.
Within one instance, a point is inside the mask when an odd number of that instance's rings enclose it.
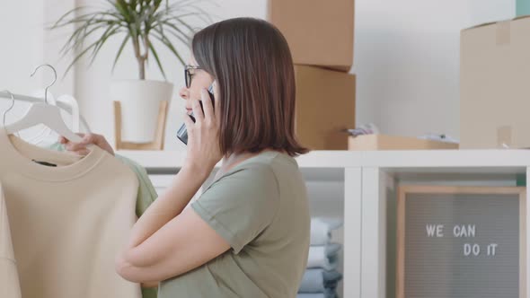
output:
{"label": "darker brown lower cardboard box in the stack behind woman's hair", "polygon": [[355,127],[356,77],[314,66],[295,66],[296,136],[313,150],[347,150]]}

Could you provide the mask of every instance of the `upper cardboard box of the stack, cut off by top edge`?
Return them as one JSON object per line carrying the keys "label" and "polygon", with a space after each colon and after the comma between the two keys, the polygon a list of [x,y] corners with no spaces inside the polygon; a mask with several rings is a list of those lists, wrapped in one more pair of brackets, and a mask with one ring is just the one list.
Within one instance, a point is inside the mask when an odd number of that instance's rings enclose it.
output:
{"label": "upper cardboard box of the stack, cut off by top edge", "polygon": [[354,0],[269,0],[269,22],[284,34],[299,65],[348,72],[353,18]]}

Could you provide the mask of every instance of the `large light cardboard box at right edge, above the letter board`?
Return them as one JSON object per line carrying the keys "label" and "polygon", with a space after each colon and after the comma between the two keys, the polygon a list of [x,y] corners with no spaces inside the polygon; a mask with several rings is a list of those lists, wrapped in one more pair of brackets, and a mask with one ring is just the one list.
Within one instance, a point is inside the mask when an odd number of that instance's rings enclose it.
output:
{"label": "large light cardboard box at right edge, above the letter board", "polygon": [[461,149],[530,147],[530,17],[461,32]]}

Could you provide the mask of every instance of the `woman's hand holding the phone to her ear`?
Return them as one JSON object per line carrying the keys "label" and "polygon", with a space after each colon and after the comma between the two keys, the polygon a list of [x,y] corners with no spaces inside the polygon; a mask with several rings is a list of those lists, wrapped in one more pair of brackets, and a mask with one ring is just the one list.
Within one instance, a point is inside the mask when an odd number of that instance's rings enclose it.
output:
{"label": "woman's hand holding the phone to her ear", "polygon": [[215,101],[212,101],[206,89],[201,90],[202,109],[198,100],[191,100],[195,122],[188,114],[184,115],[184,124],[188,131],[188,148],[184,167],[200,171],[204,175],[208,175],[223,157],[219,148],[221,119],[219,113],[215,113],[215,110],[220,109],[219,90],[215,82],[213,93]]}

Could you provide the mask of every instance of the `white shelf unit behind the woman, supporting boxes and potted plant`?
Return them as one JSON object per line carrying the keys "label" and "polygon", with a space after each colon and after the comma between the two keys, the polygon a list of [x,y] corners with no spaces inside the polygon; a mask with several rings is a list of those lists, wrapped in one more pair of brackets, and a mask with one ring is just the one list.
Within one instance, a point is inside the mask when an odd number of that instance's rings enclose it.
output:
{"label": "white shelf unit behind the woman, supporting boxes and potted plant", "polygon": [[[153,174],[175,173],[186,156],[171,151],[119,154]],[[320,201],[314,199],[308,187],[311,203],[320,208],[312,212],[336,214],[343,208],[343,297],[384,298],[393,296],[392,237],[388,241],[392,226],[387,226],[387,218],[388,223],[393,220],[391,214],[387,216],[393,189],[401,183],[515,185],[517,174],[530,171],[530,151],[314,151],[298,157],[297,162],[307,182],[316,182],[313,193],[321,197]],[[529,175],[526,177],[528,180]],[[328,182],[342,189],[326,197],[319,183]],[[526,206],[530,208],[530,204]],[[526,232],[526,239],[530,239],[530,229]],[[530,245],[526,248],[530,255]],[[530,270],[530,266],[526,268]],[[530,288],[530,271],[526,276]]]}

